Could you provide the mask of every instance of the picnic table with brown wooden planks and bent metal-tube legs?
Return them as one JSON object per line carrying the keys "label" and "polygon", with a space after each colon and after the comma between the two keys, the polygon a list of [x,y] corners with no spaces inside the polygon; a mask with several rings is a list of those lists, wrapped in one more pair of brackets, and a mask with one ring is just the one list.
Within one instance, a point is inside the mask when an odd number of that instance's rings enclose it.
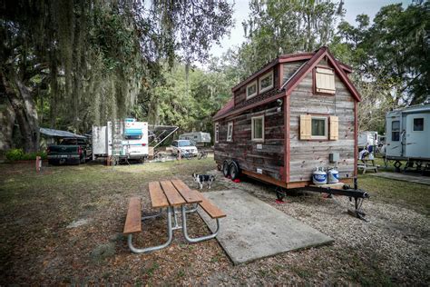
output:
{"label": "picnic table with brown wooden planks and bent metal-tube legs", "polygon": [[[220,231],[220,218],[225,217],[217,206],[206,199],[201,193],[196,190],[191,190],[187,184],[179,179],[165,180],[161,182],[149,183],[149,193],[151,197],[151,207],[160,209],[159,213],[142,217],[142,201],[140,197],[132,197],[129,203],[127,217],[123,233],[128,236],[128,245],[132,252],[152,252],[165,248],[171,244],[174,230],[182,230],[185,239],[188,242],[201,242],[215,238]],[[190,207],[191,205],[191,207]],[[198,207],[208,213],[210,218],[217,222],[217,229],[209,235],[191,238],[187,230],[187,213],[194,213]],[[146,248],[136,248],[132,245],[132,235],[142,232],[142,222],[144,220],[155,218],[162,213],[167,213],[167,242]],[[181,224],[178,220],[178,214],[181,215]],[[173,219],[173,223],[171,223]]]}

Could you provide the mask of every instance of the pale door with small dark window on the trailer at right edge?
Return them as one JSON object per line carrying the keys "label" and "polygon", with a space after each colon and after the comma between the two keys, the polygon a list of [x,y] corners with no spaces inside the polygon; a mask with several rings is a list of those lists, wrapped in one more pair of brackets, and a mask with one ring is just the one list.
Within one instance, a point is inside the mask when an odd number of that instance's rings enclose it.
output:
{"label": "pale door with small dark window on the trailer at right edge", "polygon": [[430,114],[406,115],[406,157],[430,157]]}

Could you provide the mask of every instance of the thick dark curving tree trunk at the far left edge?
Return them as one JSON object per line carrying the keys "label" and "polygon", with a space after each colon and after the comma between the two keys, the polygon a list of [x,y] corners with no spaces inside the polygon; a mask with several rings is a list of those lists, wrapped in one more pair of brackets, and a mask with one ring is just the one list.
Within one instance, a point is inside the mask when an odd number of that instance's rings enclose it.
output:
{"label": "thick dark curving tree trunk at the far left edge", "polygon": [[16,75],[12,75],[11,78],[12,81],[6,78],[3,71],[0,72],[2,90],[14,109],[15,119],[23,138],[24,152],[34,153],[39,147],[39,123],[33,97]]}

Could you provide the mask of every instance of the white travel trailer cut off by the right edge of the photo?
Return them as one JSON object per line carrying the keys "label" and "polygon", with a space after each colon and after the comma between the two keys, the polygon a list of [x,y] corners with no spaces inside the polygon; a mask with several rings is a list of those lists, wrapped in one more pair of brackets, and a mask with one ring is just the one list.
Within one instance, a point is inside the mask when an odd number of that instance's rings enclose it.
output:
{"label": "white travel trailer cut off by the right edge of the photo", "polygon": [[[418,104],[386,114],[386,160],[407,161],[406,168],[430,163],[430,104]],[[423,166],[424,164],[424,166]]]}

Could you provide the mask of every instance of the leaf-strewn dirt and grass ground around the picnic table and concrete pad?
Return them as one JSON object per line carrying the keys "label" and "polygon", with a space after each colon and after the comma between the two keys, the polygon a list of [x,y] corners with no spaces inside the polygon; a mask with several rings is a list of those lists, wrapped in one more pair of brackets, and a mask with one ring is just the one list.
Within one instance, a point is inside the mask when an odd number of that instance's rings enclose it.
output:
{"label": "leaf-strewn dirt and grass ground around the picnic table and concrete pad", "polygon": [[[0,164],[0,285],[430,282],[429,186],[361,176],[360,187],[371,194],[364,203],[369,222],[364,222],[347,214],[347,198],[304,193],[279,204],[273,187],[250,179],[232,183],[214,167],[210,158],[181,164],[48,166],[42,173],[34,172],[34,164]],[[169,248],[131,253],[122,235],[129,198],[141,196],[148,210],[150,181],[178,177],[195,186],[195,172],[217,175],[212,190],[245,190],[335,242],[235,266],[216,240],[190,244],[177,231]],[[208,233],[196,213],[189,225],[193,235]],[[162,220],[145,222],[143,229],[135,245],[165,239]]]}

